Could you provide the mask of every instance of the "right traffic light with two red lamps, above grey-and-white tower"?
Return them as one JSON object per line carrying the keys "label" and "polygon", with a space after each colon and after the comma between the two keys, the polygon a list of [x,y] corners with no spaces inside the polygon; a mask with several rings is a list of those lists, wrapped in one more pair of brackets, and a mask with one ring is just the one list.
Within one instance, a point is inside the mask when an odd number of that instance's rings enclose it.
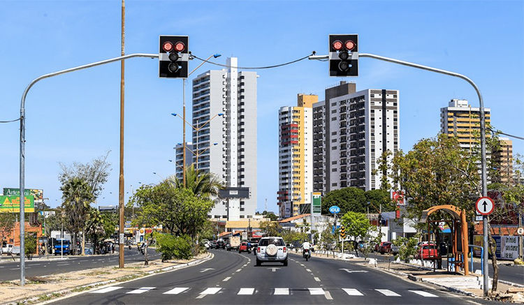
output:
{"label": "right traffic light with two red lamps, above grey-and-white tower", "polygon": [[358,34],[329,36],[329,76],[358,76]]}

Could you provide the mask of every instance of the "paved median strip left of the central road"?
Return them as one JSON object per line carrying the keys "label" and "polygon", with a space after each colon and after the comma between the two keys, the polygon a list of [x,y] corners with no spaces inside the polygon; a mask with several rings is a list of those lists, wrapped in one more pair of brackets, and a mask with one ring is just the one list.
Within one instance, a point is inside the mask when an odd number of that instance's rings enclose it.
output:
{"label": "paved median strip left of the central road", "polygon": [[131,281],[150,274],[196,265],[211,258],[212,254],[203,253],[191,260],[170,260],[168,262],[150,260],[148,266],[145,266],[144,262],[132,262],[126,264],[123,269],[117,266],[99,267],[50,276],[35,276],[27,278],[23,287],[20,286],[20,280],[0,282],[1,304],[44,302],[74,292],[89,290],[99,285]]}

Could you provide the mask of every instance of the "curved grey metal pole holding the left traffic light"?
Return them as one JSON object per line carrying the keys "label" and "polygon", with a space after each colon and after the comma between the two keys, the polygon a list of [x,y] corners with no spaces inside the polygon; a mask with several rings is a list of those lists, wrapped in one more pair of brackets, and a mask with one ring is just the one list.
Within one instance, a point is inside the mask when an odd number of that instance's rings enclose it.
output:
{"label": "curved grey metal pole holding the left traffic light", "polygon": [[[159,54],[146,54],[146,53],[136,53],[136,54],[129,54],[121,57],[115,57],[112,59],[105,59],[103,61],[96,61],[91,64],[86,64],[83,66],[78,66],[74,68],[68,68],[66,70],[60,70],[57,72],[44,74],[39,77],[36,77],[34,80],[32,80],[27,87],[24,90],[24,93],[22,94],[22,101],[20,101],[20,285],[24,285],[25,283],[25,249],[24,249],[24,232],[25,232],[25,210],[24,210],[24,192],[25,192],[25,98],[27,94],[29,93],[29,90],[31,87],[34,86],[37,82],[65,74],[70,73],[77,70],[83,70],[87,68],[91,68],[94,66],[101,66],[103,64],[109,64],[114,61],[124,61],[125,59],[130,59],[133,57],[149,57],[152,59],[158,58]],[[122,223],[120,224],[122,226]],[[122,227],[123,228],[123,227]]]}

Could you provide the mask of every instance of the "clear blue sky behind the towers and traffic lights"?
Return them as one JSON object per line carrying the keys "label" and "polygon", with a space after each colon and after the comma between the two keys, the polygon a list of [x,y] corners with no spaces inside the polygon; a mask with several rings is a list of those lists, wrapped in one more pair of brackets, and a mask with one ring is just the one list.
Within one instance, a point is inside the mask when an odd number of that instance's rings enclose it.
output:
{"label": "clear blue sky behind the towers and traffic lights", "polygon": [[[328,34],[359,34],[360,52],[453,70],[479,85],[493,125],[524,134],[522,1],[126,1],[126,54],[158,52],[161,34],[189,35],[198,57],[220,53],[240,66],[326,54]],[[31,80],[120,54],[120,1],[0,1],[0,121],[20,114]],[[196,67],[198,61],[191,61]],[[199,73],[215,67],[206,64]],[[126,61],[125,186],[173,174],[182,142],[182,80],[158,77],[154,59]],[[99,204],[118,200],[119,64],[43,80],[27,97],[26,187],[60,202],[58,162],[110,152],[112,172]],[[296,94],[318,94],[342,79],[320,61],[257,71],[259,210],[277,210],[277,112]],[[400,146],[439,131],[451,98],[477,106],[463,80],[361,59],[357,89],[400,90]],[[188,94],[189,96],[189,94]],[[188,105],[191,105],[188,99]],[[189,107],[190,108],[190,107]],[[190,113],[190,111],[188,111]],[[19,124],[0,124],[0,188],[18,187]],[[524,154],[522,140],[514,152]],[[153,174],[157,172],[158,175]],[[126,196],[127,197],[127,196]]]}

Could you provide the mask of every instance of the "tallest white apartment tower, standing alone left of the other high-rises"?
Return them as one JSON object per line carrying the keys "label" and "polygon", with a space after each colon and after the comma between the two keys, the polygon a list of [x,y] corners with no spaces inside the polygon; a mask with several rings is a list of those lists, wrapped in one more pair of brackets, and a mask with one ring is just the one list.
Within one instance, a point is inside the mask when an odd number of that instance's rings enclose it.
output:
{"label": "tallest white apartment tower, standing alone left of the other high-rises", "polygon": [[[256,78],[229,68],[208,70],[193,80],[193,147],[198,144],[198,168],[216,174],[226,187],[248,187],[249,198],[219,200],[210,217],[230,221],[252,218],[256,211]],[[223,113],[223,116],[214,115]],[[212,119],[210,121],[210,119]],[[208,122],[207,124],[205,124]],[[216,143],[216,145],[214,144]]]}

